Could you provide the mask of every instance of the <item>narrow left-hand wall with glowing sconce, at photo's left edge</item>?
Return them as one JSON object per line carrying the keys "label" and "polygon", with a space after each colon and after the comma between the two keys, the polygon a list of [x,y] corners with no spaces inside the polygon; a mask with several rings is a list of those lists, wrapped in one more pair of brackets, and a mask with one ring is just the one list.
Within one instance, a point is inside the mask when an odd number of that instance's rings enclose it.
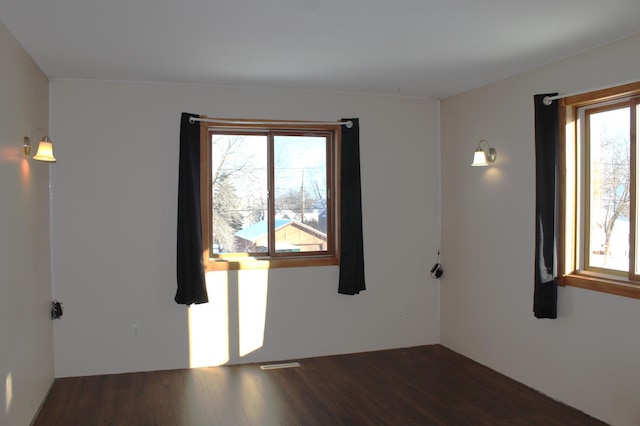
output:
{"label": "narrow left-hand wall with glowing sconce, at photo's left edge", "polygon": [[[29,424],[53,381],[49,165],[22,151],[22,139],[32,127],[48,126],[48,86],[38,66],[0,23],[2,425]],[[38,140],[43,136],[34,134]]]}

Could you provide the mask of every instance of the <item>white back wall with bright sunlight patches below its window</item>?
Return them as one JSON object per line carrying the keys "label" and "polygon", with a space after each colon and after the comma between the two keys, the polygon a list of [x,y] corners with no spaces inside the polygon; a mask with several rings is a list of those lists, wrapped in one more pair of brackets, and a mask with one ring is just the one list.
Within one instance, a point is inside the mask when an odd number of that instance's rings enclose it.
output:
{"label": "white back wall with bright sunlight patches below its window", "polygon": [[[211,303],[177,305],[183,111],[256,119],[359,117],[367,290],[337,294],[337,267],[212,273]],[[51,114],[58,158],[54,282],[65,306],[63,321],[54,326],[56,376],[438,342],[439,285],[428,274],[440,236],[437,101],[57,80]],[[138,338],[133,324],[140,326]]]}

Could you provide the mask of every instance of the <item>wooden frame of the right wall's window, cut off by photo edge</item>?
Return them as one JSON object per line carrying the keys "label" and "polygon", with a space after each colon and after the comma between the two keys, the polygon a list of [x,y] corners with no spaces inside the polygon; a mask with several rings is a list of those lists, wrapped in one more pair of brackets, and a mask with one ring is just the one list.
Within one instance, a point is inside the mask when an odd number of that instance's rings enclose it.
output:
{"label": "wooden frame of the right wall's window, cut off by photo edge", "polygon": [[[624,84],[603,90],[596,90],[580,95],[569,96],[560,100],[560,124],[564,124],[564,131],[560,131],[560,155],[559,155],[559,220],[558,220],[558,272],[561,286],[579,287],[603,293],[640,299],[640,280],[633,274],[630,268],[628,277],[603,275],[578,269],[579,254],[578,239],[582,238],[582,225],[579,223],[579,191],[581,188],[579,173],[583,167],[578,156],[579,123],[578,110],[585,106],[600,104],[609,101],[635,98],[640,96],[640,82]],[[632,107],[637,106],[640,100],[632,102]],[[635,172],[636,162],[636,123],[631,114],[631,192],[636,194]],[[562,127],[561,127],[562,128]],[[635,205],[640,200],[630,205],[630,229],[635,225]],[[632,233],[636,238],[637,232]],[[629,245],[629,257],[635,259],[635,246],[637,241],[631,241]],[[633,262],[631,262],[633,265]]]}

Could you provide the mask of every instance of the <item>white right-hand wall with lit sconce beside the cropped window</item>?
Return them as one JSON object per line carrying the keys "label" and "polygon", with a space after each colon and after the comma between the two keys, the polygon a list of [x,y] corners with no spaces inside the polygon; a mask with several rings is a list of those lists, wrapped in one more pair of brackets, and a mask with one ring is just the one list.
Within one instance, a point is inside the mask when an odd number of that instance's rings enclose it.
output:
{"label": "white right-hand wall with lit sconce beside the cropped window", "polygon": [[[532,313],[533,95],[638,79],[630,38],[442,103],[442,343],[617,425],[640,424],[640,301],[559,291],[559,318]],[[469,167],[478,140],[495,166]]]}

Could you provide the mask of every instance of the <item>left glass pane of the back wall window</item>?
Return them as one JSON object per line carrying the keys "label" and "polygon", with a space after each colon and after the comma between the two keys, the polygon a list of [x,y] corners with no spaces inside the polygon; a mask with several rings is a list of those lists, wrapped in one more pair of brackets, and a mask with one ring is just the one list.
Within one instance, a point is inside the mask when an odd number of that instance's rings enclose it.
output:
{"label": "left glass pane of the back wall window", "polygon": [[267,137],[212,135],[211,178],[213,253],[267,251]]}

